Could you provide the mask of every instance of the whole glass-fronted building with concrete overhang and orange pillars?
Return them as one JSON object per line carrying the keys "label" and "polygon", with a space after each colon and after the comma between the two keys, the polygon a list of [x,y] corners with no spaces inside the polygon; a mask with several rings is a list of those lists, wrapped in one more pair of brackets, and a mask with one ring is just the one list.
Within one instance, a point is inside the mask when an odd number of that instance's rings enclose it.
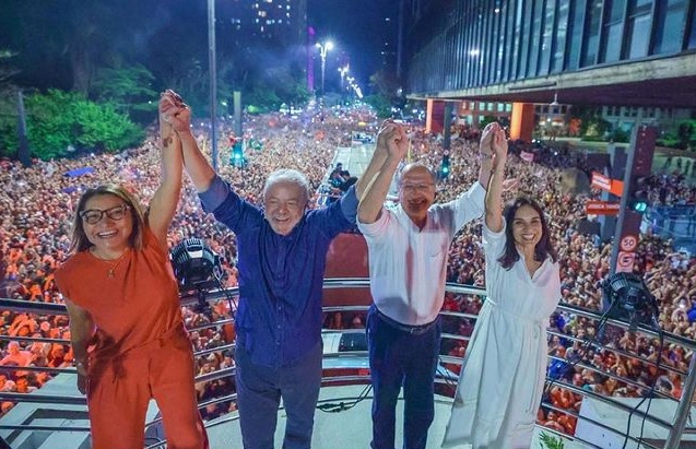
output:
{"label": "whole glass-fronted building with concrete overhang and orange pillars", "polygon": [[[514,103],[511,132],[529,140],[534,105],[624,107],[634,122],[654,122],[657,115],[649,115],[656,108],[696,104],[693,0],[411,0],[409,5],[405,90],[428,102],[437,122],[444,107],[434,103]],[[614,121],[627,127],[625,116],[614,116],[624,117]]]}

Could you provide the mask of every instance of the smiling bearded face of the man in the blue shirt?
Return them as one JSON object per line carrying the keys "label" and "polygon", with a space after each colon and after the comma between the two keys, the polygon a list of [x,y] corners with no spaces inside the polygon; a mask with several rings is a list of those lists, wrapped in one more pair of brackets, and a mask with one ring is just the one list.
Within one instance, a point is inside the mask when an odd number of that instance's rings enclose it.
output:
{"label": "smiling bearded face of the man in the blue shirt", "polygon": [[263,198],[263,215],[271,228],[288,235],[302,220],[307,206],[307,193],[296,182],[281,180],[270,186]]}

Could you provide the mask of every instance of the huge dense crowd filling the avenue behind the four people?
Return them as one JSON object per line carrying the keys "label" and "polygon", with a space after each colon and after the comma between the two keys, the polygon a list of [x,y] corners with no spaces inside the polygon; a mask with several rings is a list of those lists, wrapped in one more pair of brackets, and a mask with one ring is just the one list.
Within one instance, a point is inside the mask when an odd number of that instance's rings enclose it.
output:
{"label": "huge dense crowd filling the avenue behind the four people", "polygon": [[[351,133],[358,121],[366,120],[361,113],[325,113],[321,120],[310,115],[288,118],[282,115],[248,117],[245,133],[253,135],[261,143],[258,149],[247,150],[247,164],[237,168],[227,164],[229,149],[223,149],[220,176],[229,182],[244,199],[260,203],[263,185],[268,175],[278,168],[296,168],[307,175],[312,191],[317,191],[326,178],[334,151],[339,145],[350,145]],[[366,131],[375,132],[374,129]],[[194,129],[198,145],[210,153],[210,142],[205,127]],[[449,150],[451,170],[437,186],[438,202],[449,201],[471,186],[477,177],[477,141],[470,133],[452,141]],[[420,162],[435,169],[443,158],[441,141],[413,127],[409,130],[411,162]],[[2,234],[0,234],[0,297],[44,303],[61,303],[54,279],[54,272],[67,258],[70,246],[70,223],[72,208],[87,187],[107,181],[131,186],[148,203],[157,188],[158,146],[154,134],[138,149],[111,155],[89,155],[74,159],[50,162],[35,161],[32,167],[23,167],[19,162],[3,162],[0,168],[0,209]],[[227,152],[227,153],[225,153]],[[550,216],[552,240],[558,250],[561,265],[562,303],[601,310],[602,296],[599,287],[610,271],[611,243],[599,241],[594,236],[580,232],[578,224],[586,218],[583,203],[598,192],[571,194],[559,188],[559,172],[581,164],[581,155],[563,152],[553,155],[553,163],[544,161],[529,163],[511,154],[508,173],[519,180],[519,192],[536,198]],[[89,167],[90,170],[81,170]],[[79,174],[83,173],[83,174]],[[651,178],[650,199],[660,204],[694,203],[695,187],[676,175],[660,175]],[[135,188],[137,187],[137,188]],[[317,197],[310,199],[317,201]],[[481,245],[480,221],[464,225],[455,236],[449,249],[447,280],[474,286],[485,286],[484,256]],[[189,237],[204,239],[221,256],[227,286],[237,283],[235,261],[237,250],[235,236],[217,224],[210,214],[201,211],[199,199],[191,184],[186,179],[184,193],[168,235],[169,247]],[[665,331],[689,339],[696,338],[696,258],[673,247],[672,241],[654,235],[642,235],[637,249],[635,270],[645,275],[650,291],[660,307],[659,321]],[[475,295],[446,294],[444,309],[477,314],[483,300]],[[192,308],[184,308],[184,319],[189,327],[201,327],[217,317],[228,314],[227,303],[214,305],[211,316]],[[357,319],[355,319],[357,318]],[[364,315],[328,317],[325,326],[349,328],[364,326]],[[443,322],[443,332],[470,335],[473,320],[450,320]],[[548,347],[552,355],[568,358],[577,354],[582,342],[591,339],[597,329],[591,320],[565,312],[555,314],[548,329],[564,336],[554,336]],[[3,311],[0,316],[0,333],[3,334],[0,359],[0,389],[3,391],[31,391],[40,388],[52,375],[21,370],[22,366],[62,368],[72,365],[73,353],[67,343],[70,340],[68,319],[64,316],[30,316]],[[13,341],[12,336],[34,336],[56,339],[52,343],[26,344]],[[647,339],[632,332],[607,333],[610,348],[585,352],[583,361],[597,369],[578,364],[563,371],[568,382],[611,395],[638,397],[649,389],[656,379],[661,392],[677,398],[681,393],[682,377],[672,371],[644,369],[645,365],[622,352],[645,356],[648,361],[661,357],[662,366],[686,370],[693,354],[679,345],[665,345],[659,353],[657,340]],[[234,342],[231,326],[204,327],[191,332],[194,351],[215,350]],[[616,347],[617,351],[612,351]],[[444,341],[441,354],[461,357],[467,343],[461,340]],[[229,350],[207,352],[197,358],[197,374],[233,367],[235,362]],[[448,365],[457,370],[457,365]],[[3,367],[5,367],[3,369]],[[606,375],[602,375],[605,373]],[[618,374],[634,380],[641,387],[622,385],[612,378]],[[234,379],[199,382],[199,400],[207,400],[235,391]],[[545,398],[561,409],[576,411],[579,398],[558,386],[554,386]],[[2,412],[12,406],[2,404]],[[234,402],[210,405],[202,411],[204,418],[213,418],[229,410]],[[541,410],[539,421],[552,422],[564,432],[573,433],[575,420],[551,410]]]}

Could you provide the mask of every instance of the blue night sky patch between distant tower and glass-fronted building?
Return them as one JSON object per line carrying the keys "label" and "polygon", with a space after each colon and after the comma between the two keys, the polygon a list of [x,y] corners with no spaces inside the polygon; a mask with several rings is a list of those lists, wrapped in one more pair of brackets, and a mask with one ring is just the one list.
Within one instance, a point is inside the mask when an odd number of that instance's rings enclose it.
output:
{"label": "blue night sky patch between distant tower and glass-fronted building", "polygon": [[[331,38],[337,45],[333,59],[327,58],[327,84],[330,74],[340,80],[338,68],[341,51],[351,64],[353,76],[363,90],[369,76],[381,68],[385,42],[397,42],[399,2],[394,0],[309,0],[307,22],[314,26],[319,40]],[[385,17],[390,17],[386,22]]]}

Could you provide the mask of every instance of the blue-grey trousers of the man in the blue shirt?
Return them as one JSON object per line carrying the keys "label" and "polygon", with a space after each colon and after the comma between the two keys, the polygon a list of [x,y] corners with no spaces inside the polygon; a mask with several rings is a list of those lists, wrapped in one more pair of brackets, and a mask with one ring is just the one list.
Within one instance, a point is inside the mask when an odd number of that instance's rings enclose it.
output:
{"label": "blue-grey trousers of the man in the blue shirt", "polygon": [[287,420],[283,449],[309,449],[321,388],[322,345],[293,365],[259,366],[237,346],[237,405],[245,449],[273,449],[281,398]]}

